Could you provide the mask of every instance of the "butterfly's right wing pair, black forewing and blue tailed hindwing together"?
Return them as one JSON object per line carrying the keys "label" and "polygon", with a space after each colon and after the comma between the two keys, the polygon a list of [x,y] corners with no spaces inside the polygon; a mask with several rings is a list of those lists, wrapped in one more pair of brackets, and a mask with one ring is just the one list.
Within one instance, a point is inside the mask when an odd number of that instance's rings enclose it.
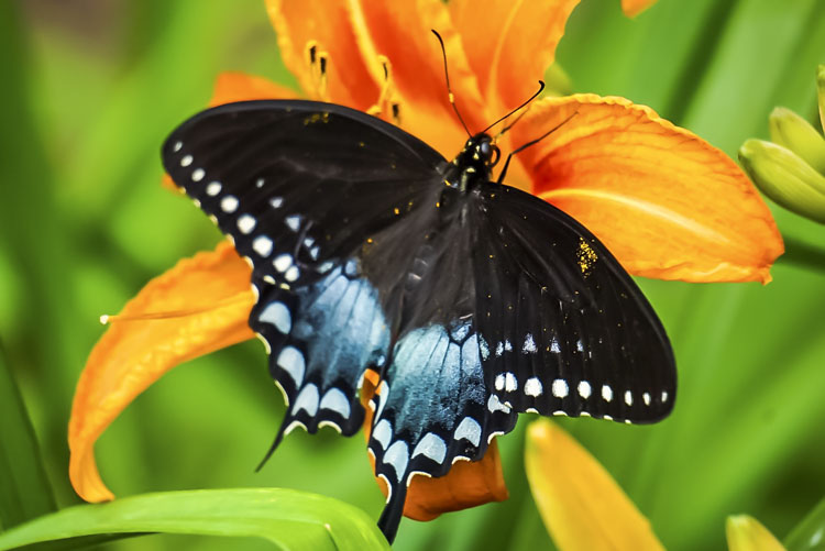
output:
{"label": "butterfly's right wing pair, black forewing and blue tailed hindwing together", "polygon": [[443,231],[426,227],[429,257],[411,255],[426,271],[410,302],[426,310],[396,342],[373,400],[369,447],[389,487],[380,526],[391,539],[413,475],[480,460],[518,412],[652,422],[675,397],[661,323],[592,233],[514,188],[453,192],[441,208],[463,207]]}

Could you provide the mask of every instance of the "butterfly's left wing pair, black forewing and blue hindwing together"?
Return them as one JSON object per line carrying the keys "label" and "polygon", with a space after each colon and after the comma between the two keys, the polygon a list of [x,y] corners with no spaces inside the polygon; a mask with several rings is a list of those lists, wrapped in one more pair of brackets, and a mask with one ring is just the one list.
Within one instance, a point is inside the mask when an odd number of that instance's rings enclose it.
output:
{"label": "butterfly's left wing pair, black forewing and blue hindwing together", "polygon": [[341,106],[249,101],[186,121],[163,161],[253,266],[250,326],[289,405],[276,443],[296,426],[354,433],[358,386],[388,355],[391,330],[359,257],[371,235],[416,213],[444,159]]}

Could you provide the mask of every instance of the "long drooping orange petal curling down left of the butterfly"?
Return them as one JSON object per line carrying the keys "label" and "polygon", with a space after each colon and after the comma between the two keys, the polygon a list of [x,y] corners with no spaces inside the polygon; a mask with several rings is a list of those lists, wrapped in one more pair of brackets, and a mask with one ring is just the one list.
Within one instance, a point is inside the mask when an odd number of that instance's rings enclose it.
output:
{"label": "long drooping orange petal curling down left of the butterfly", "polygon": [[69,478],[80,497],[114,497],[100,478],[94,445],[139,394],[187,360],[254,337],[246,323],[254,304],[250,277],[250,267],[224,242],[180,261],[127,304],[122,317],[174,316],[114,321],[91,351],[69,420]]}

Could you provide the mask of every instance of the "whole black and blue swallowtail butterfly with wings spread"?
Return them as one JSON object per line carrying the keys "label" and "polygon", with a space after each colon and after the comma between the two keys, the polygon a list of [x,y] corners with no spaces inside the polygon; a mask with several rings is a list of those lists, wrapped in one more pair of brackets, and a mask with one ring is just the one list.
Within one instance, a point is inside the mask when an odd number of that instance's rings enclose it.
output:
{"label": "whole black and blue swallowtail butterfly with wings spread", "polygon": [[651,306],[586,228],[492,181],[486,132],[447,161],[346,107],[258,100],[196,114],[162,156],[252,266],[249,323],[287,403],[273,449],[296,427],[355,433],[377,378],[391,542],[411,477],[480,460],[519,412],[646,423],[673,407]]}

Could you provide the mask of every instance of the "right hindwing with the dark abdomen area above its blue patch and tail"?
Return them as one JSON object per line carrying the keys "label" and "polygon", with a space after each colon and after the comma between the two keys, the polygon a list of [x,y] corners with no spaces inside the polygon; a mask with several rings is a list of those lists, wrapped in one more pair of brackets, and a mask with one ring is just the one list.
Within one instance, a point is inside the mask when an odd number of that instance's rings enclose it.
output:
{"label": "right hindwing with the dark abdomen area above its blue patch and tail", "polygon": [[[459,460],[482,458],[516,416],[497,407],[485,383],[475,324],[474,232],[466,196],[438,183],[404,227],[375,238],[365,273],[402,304],[398,338],[383,372],[369,449],[389,488],[378,521],[392,541],[415,474],[443,476]],[[403,266],[391,282],[385,266]]]}

